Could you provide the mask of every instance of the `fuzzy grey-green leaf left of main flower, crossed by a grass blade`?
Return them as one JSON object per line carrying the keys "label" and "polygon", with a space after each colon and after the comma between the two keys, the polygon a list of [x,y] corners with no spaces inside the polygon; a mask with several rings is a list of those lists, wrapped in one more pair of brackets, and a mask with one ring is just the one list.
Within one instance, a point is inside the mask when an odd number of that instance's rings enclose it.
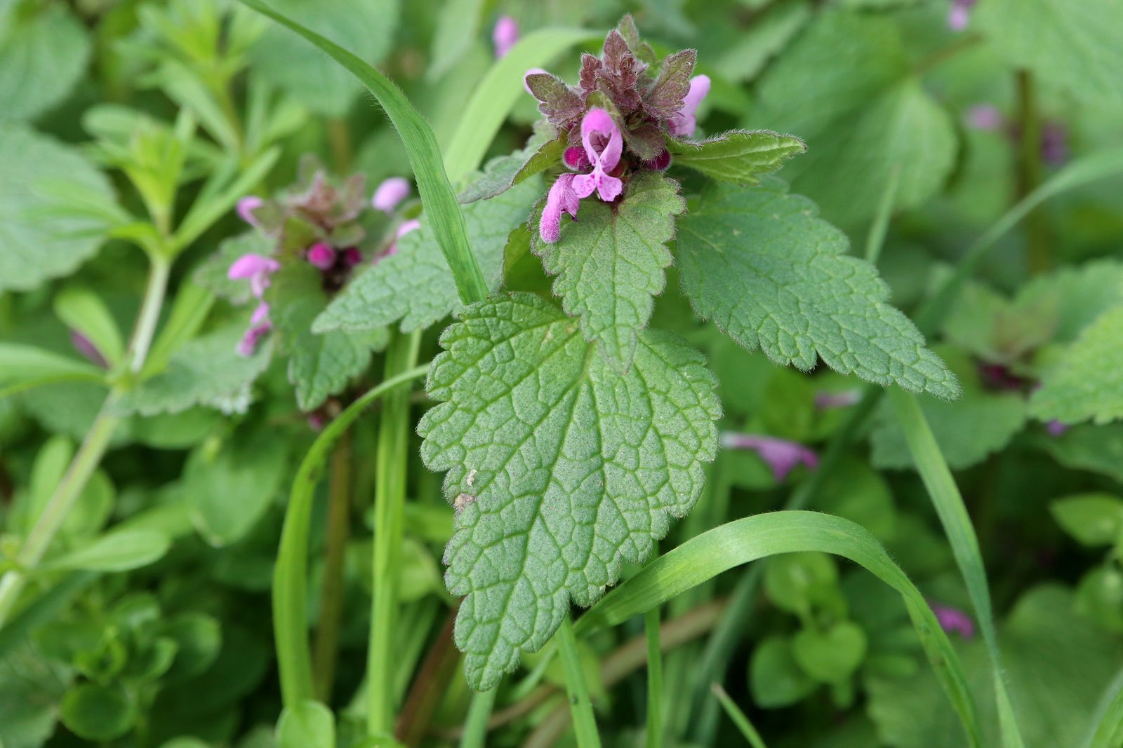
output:
{"label": "fuzzy grey-green leaf left of main flower, crossed by a grass blade", "polygon": [[[503,273],[506,237],[530,214],[541,192],[528,179],[491,200],[463,206],[472,249],[494,290]],[[312,330],[372,330],[401,322],[402,332],[428,327],[459,308],[453,275],[424,216],[421,228],[398,240],[398,253],[354,278],[317,317]]]}

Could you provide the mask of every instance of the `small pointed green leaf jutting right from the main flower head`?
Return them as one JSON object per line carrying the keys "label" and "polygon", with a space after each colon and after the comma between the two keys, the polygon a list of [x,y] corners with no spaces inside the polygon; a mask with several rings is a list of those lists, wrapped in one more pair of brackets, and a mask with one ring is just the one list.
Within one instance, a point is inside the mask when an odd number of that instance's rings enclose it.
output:
{"label": "small pointed green leaf jutting right from the main flower head", "polygon": [[730,130],[705,140],[667,138],[677,166],[687,166],[707,177],[733,184],[759,184],[758,174],[778,169],[807,146],[791,135],[772,130]]}

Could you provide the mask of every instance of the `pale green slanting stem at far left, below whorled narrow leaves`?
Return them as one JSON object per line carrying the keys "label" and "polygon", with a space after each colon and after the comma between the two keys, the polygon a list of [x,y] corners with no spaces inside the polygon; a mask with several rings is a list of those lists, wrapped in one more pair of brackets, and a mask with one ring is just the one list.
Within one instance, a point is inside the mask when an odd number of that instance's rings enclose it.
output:
{"label": "pale green slanting stem at far left, below whorled narrow leaves", "polygon": [[[148,270],[148,285],[145,288],[144,299],[140,302],[140,312],[137,316],[136,327],[133,331],[133,339],[129,341],[131,352],[130,368],[139,371],[144,367],[145,358],[148,355],[148,347],[156,332],[156,322],[159,320],[159,311],[164,304],[164,295],[167,290],[167,277],[170,262],[166,259],[153,257]],[[24,587],[27,584],[28,571],[43,560],[43,555],[51,547],[55,535],[62,527],[66,515],[74,508],[74,502],[82,495],[86,482],[93,471],[101,463],[109,442],[117,430],[120,421],[113,413],[113,406],[125,391],[125,385],[116,385],[106,401],[102,404],[98,416],[94,418],[90,431],[82,440],[82,445],[71,461],[66,473],[58,482],[54,493],[35,521],[35,526],[28,534],[27,539],[20,547],[16,556],[18,567],[7,572],[0,578],[0,628],[11,615],[12,609],[19,600]]]}

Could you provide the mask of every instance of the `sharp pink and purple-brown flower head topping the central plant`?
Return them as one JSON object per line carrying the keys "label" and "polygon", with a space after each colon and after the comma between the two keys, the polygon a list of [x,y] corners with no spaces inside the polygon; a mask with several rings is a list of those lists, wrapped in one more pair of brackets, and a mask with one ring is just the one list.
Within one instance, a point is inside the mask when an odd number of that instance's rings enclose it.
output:
{"label": "sharp pink and purple-brown flower head topping the central plant", "polygon": [[528,71],[523,84],[539,111],[570,145],[564,173],[550,187],[539,223],[542,241],[562,233],[562,215],[577,216],[581,200],[594,193],[613,202],[624,193],[629,175],[670,165],[667,138],[691,137],[699,104],[710,79],[692,75],[695,52],[668,55],[658,64],[651,47],[639,40],[630,16],[609,33],[600,57],[582,56],[581,81],[570,86],[542,70]]}

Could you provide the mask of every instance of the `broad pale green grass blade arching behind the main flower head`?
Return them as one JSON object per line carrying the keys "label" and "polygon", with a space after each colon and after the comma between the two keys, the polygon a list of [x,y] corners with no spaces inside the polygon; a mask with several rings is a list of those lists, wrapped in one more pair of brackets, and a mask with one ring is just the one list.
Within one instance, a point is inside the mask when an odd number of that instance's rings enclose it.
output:
{"label": "broad pale green grass blade arching behind the main flower head", "polygon": [[522,90],[522,76],[531,67],[540,67],[569,47],[583,41],[604,38],[603,31],[581,28],[544,28],[519,39],[510,52],[497,59],[476,86],[460,127],[453,135],[445,156],[448,178],[456,182],[480,168],[503,120],[510,113]]}

